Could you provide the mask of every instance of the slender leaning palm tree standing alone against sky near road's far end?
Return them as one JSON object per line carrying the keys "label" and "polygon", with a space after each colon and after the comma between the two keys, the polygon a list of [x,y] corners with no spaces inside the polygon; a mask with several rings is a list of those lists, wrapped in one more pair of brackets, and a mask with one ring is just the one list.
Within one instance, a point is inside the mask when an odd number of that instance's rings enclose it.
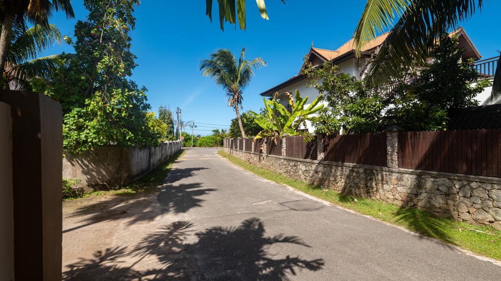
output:
{"label": "slender leaning palm tree standing alone against sky near road's far end", "polygon": [[216,84],[222,86],[226,91],[228,106],[233,107],[236,112],[242,137],[245,137],[245,131],[238,111],[238,106],[241,107],[242,104],[242,91],[250,83],[250,78],[254,76],[254,70],[266,65],[266,62],[260,57],[248,61],[244,56],[245,48],[242,48],[238,61],[228,49],[218,49],[210,54],[210,59],[200,61],[202,75],[212,77]]}

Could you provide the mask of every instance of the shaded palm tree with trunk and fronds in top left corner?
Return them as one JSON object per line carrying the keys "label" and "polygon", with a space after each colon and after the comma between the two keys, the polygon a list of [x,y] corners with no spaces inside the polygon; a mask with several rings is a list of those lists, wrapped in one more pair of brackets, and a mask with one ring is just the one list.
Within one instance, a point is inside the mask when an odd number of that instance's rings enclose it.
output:
{"label": "shaded palm tree with trunk and fronds in top left corner", "polygon": [[55,11],[65,11],[68,18],[75,17],[71,0],[2,0],[0,4],[0,73],[4,71],[6,56],[11,42],[13,26],[24,26],[26,20],[48,26],[48,18]]}

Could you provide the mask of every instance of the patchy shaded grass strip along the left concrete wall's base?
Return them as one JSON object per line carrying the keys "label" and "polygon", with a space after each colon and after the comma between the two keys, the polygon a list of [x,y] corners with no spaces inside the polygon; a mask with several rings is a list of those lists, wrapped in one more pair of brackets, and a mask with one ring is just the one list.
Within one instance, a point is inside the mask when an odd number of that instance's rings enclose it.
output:
{"label": "patchy shaded grass strip along the left concrete wall's base", "polygon": [[152,192],[158,185],[161,185],[165,181],[165,177],[169,173],[174,161],[185,153],[184,150],[172,155],[168,160],[158,165],[156,168],[143,175],[138,180],[129,183],[127,185],[118,186],[110,190],[96,190],[91,192],[86,192],[78,196],[67,196],[64,200],[74,200],[80,198],[97,197],[103,195],[119,195],[119,196],[131,196],[143,192]]}

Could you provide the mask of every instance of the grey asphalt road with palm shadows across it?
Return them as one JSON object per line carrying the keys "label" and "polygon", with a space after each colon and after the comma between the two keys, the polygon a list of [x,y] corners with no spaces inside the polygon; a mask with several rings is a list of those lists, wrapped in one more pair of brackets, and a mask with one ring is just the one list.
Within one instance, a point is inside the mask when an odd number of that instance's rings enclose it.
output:
{"label": "grey asphalt road with palm shadows across it", "polygon": [[[160,192],[67,204],[65,280],[501,280],[501,266],[189,149]],[[500,249],[501,250],[501,249]]]}

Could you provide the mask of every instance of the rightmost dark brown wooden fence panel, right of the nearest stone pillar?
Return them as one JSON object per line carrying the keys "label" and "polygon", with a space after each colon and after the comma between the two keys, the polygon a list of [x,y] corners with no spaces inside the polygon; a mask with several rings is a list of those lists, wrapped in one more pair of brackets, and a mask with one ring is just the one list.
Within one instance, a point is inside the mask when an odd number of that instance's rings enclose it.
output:
{"label": "rightmost dark brown wooden fence panel, right of the nearest stone pillar", "polygon": [[501,177],[501,129],[401,132],[401,168]]}

